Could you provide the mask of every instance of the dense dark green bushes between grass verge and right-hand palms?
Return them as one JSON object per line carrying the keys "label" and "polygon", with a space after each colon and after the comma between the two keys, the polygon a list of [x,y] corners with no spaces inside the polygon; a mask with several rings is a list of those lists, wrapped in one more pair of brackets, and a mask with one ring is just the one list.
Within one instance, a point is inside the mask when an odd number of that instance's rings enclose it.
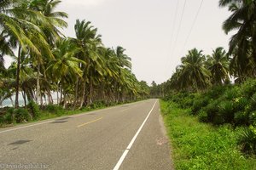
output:
{"label": "dense dark green bushes between grass verge and right-hand palms", "polygon": [[[196,97],[193,99],[191,111],[193,115],[199,115],[203,122],[249,126],[256,122],[255,91],[255,80],[248,80],[241,85],[212,87],[205,93],[194,94]],[[184,99],[178,99],[178,104],[183,105]]]}

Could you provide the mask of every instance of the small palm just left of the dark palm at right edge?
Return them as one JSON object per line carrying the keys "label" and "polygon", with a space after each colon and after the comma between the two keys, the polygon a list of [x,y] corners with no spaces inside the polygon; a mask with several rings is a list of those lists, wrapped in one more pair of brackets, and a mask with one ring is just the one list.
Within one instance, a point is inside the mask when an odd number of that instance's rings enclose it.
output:
{"label": "small palm just left of the dark palm at right edge", "polygon": [[211,56],[207,56],[207,67],[211,71],[213,84],[230,82],[230,62],[224,48],[216,48]]}

